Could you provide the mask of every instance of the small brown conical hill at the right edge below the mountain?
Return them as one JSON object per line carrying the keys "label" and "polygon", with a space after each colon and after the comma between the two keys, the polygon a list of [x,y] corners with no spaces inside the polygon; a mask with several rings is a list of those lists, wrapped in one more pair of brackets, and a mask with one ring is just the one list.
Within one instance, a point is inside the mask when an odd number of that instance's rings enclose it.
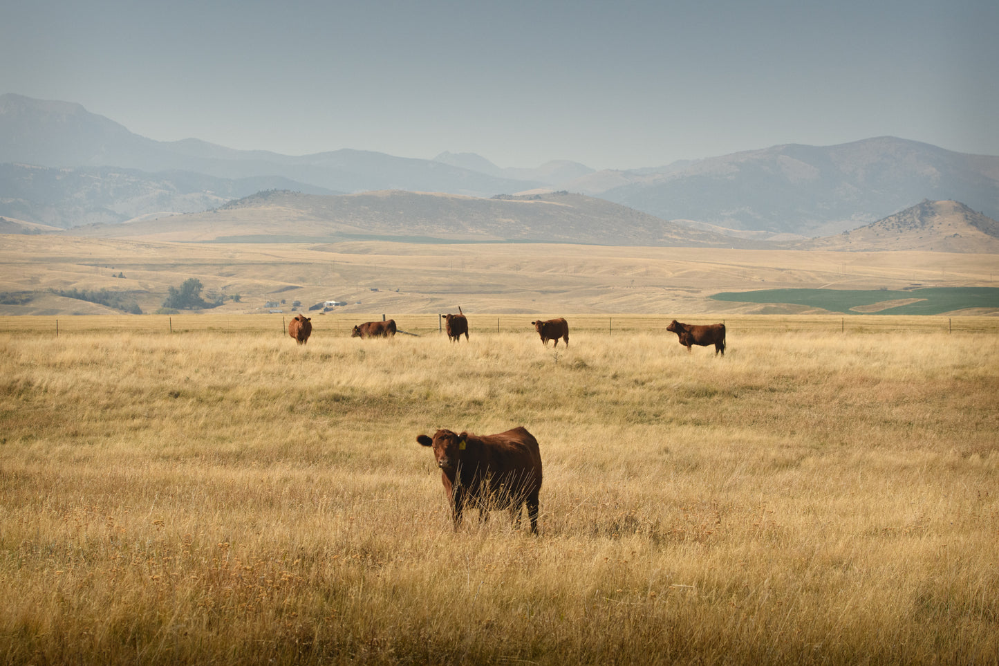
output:
{"label": "small brown conical hill at the right edge below the mountain", "polygon": [[923,201],[858,229],[789,247],[999,253],[999,222],[958,201]]}

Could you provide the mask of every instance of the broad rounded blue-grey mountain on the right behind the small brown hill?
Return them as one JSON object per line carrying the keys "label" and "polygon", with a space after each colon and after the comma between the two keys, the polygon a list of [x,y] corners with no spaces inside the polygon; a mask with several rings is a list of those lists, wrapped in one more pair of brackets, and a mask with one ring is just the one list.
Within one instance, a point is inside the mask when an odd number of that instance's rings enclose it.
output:
{"label": "broad rounded blue-grey mountain on the right behind the small brown hill", "polygon": [[667,220],[806,236],[853,229],[923,199],[999,217],[999,157],[894,137],[774,146],[651,173],[596,173],[563,187]]}

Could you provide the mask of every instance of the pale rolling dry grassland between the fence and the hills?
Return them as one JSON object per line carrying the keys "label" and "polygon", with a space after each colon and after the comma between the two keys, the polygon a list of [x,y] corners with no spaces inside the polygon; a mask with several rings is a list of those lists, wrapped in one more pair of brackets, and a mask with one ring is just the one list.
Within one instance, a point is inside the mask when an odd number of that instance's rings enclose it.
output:
{"label": "pale rolling dry grassland between the fence and the hills", "polygon": [[[266,312],[266,303],[282,299],[286,313],[296,300],[309,307],[336,299],[350,304],[338,312],[351,315],[457,312],[462,306],[470,314],[532,312],[532,318],[756,314],[763,306],[708,297],[752,289],[995,286],[999,277],[995,254],[552,244],[216,244],[0,235],[0,258],[0,293],[35,293],[27,305],[0,305],[0,314],[61,316],[115,311],[50,294],[50,288],[129,292],[150,313],[169,287],[192,277],[206,293],[241,295],[240,302],[213,310],[227,314]],[[803,311],[786,306],[777,313]]]}

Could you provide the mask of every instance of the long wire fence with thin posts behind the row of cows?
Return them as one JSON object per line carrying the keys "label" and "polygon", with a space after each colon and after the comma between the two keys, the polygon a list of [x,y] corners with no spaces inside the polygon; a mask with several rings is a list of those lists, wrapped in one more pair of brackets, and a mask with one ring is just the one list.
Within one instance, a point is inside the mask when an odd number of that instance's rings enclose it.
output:
{"label": "long wire fence with thin posts behind the row of cows", "polygon": [[[290,314],[179,314],[179,315],[65,315],[0,316],[0,334],[74,335],[80,333],[129,332],[142,334],[183,334],[192,332],[258,333],[288,335]],[[666,330],[673,319],[687,324],[724,323],[731,336],[748,332],[881,333],[881,332],[974,332],[999,333],[999,317],[991,316],[892,316],[892,315],[564,315],[569,333],[605,335],[672,335]],[[444,335],[444,321],[437,314],[359,315],[315,314],[314,334],[350,337],[354,326],[366,321],[395,319],[402,333],[418,336]],[[469,314],[473,335],[489,333],[530,333],[530,314]]]}

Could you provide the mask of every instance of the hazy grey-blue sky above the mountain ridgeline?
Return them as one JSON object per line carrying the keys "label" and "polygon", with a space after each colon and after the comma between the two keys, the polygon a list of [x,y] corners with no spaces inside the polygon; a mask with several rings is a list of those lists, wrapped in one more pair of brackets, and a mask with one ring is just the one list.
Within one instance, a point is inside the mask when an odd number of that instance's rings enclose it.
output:
{"label": "hazy grey-blue sky above the mountain ridgeline", "polygon": [[880,135],[999,155],[999,2],[29,0],[0,93],[161,141],[658,166]]}

